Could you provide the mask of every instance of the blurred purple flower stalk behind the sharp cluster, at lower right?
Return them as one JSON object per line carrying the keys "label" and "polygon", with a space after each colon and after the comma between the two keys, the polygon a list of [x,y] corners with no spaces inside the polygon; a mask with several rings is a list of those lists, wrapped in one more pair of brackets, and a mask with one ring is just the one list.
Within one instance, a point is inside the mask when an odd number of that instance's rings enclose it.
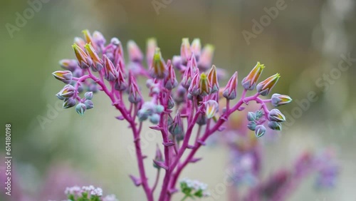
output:
{"label": "blurred purple flower stalk behind the sharp cluster, at lower right", "polygon": [[[318,189],[335,186],[340,168],[332,150],[301,153],[290,167],[271,172],[267,179],[263,179],[263,143],[245,127],[251,125],[250,120],[255,115],[248,112],[247,119],[230,118],[227,131],[222,135],[230,153],[227,173],[234,184],[229,188],[229,200],[288,200],[295,188],[312,174],[316,175]],[[274,132],[276,130],[270,130],[266,137]],[[246,195],[241,195],[241,185],[248,188]]]}

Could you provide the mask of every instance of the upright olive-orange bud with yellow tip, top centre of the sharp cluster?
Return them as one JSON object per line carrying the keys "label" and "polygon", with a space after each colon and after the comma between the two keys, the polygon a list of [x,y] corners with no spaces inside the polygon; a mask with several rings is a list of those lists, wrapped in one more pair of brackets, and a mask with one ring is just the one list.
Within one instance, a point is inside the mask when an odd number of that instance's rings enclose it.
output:
{"label": "upright olive-orange bud with yellow tip, top centre of the sharp cluster", "polygon": [[155,55],[153,56],[152,64],[150,67],[150,76],[152,78],[165,78],[167,77],[166,64],[162,58],[162,54],[159,48],[156,48]]}

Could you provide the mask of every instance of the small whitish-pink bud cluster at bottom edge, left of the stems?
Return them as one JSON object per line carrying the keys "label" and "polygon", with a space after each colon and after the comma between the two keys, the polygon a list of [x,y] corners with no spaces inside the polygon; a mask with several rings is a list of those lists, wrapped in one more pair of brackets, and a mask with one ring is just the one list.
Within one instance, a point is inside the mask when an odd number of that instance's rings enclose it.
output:
{"label": "small whitish-pink bud cluster at bottom edge, left of the stems", "polygon": [[100,187],[94,187],[93,185],[67,187],[64,193],[70,201],[118,201],[115,195],[107,195],[103,197],[103,190]]}

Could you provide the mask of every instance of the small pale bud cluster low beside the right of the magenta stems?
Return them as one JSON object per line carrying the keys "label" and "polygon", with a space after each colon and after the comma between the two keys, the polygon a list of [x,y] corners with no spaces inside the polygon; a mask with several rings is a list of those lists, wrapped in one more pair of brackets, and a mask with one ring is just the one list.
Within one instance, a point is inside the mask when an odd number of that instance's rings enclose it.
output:
{"label": "small pale bud cluster low beside the right of the magenta stems", "polygon": [[185,198],[190,197],[208,197],[210,194],[207,191],[208,185],[199,182],[198,180],[189,180],[184,178],[180,181],[181,191],[184,193]]}

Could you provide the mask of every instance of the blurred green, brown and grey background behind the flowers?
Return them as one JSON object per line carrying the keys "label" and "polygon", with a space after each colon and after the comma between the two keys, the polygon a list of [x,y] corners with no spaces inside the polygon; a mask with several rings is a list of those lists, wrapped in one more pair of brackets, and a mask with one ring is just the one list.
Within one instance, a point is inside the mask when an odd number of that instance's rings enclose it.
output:
{"label": "blurred green, brown and grey background behind the flowers", "polygon": [[[240,80],[256,61],[267,66],[263,78],[281,73],[274,91],[294,101],[281,108],[289,119],[288,129],[278,135],[278,143],[266,146],[263,171],[288,168],[305,149],[331,147],[341,167],[335,189],[315,190],[310,178],[289,200],[355,200],[355,59],[347,71],[331,73],[342,56],[356,58],[356,2],[286,0],[286,9],[248,42],[243,31],[253,33],[252,20],[259,21],[266,14],[263,9],[278,1],[164,2],[169,4],[156,11],[151,0],[51,0],[13,33],[6,24],[16,25],[16,12],[23,15],[30,6],[27,1],[0,2],[0,119],[4,130],[5,123],[13,129],[13,187],[14,194],[22,195],[14,199],[38,200],[33,197],[41,195],[40,200],[60,200],[67,185],[95,184],[120,200],[145,200],[127,177],[137,174],[132,135],[125,123],[115,120],[117,111],[108,98],[95,96],[95,108],[80,117],[74,109],[62,110],[54,96],[63,85],[51,73],[60,69],[60,59],[74,58],[73,38],[90,29],[100,30],[108,39],[117,36],[124,44],[134,39],[142,48],[146,38],[155,36],[164,58],[179,54],[183,37],[199,37],[202,43],[214,44],[214,64],[229,73],[239,71]],[[318,100],[299,115],[298,101],[308,98],[310,91]],[[0,155],[4,155],[1,133]],[[152,139],[144,146],[152,158],[159,135],[150,130],[144,135]],[[199,155],[204,160],[190,165],[183,175],[214,187],[225,174],[226,148],[205,148]],[[154,175],[150,161],[146,162],[148,174]]]}

